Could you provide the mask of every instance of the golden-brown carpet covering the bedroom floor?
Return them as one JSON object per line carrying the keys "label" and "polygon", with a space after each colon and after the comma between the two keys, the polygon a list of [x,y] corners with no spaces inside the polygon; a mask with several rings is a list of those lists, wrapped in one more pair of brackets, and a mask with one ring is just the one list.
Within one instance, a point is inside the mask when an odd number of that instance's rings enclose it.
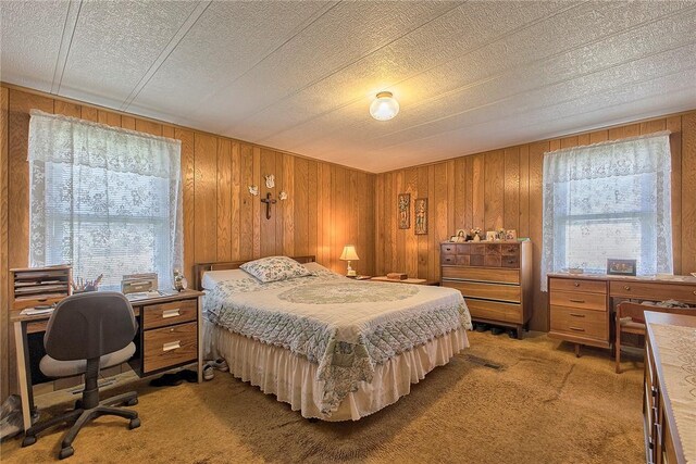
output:
{"label": "golden-brown carpet covering the bedroom floor", "polygon": [[[226,373],[177,387],[138,380],[142,426],[101,417],[80,431],[67,462],[645,461],[639,362],[617,375],[608,350],[584,349],[576,359],[570,344],[545,335],[470,333],[470,340],[410,394],[356,423],[310,423]],[[24,449],[20,439],[2,443],[2,462],[52,461],[63,431]]]}

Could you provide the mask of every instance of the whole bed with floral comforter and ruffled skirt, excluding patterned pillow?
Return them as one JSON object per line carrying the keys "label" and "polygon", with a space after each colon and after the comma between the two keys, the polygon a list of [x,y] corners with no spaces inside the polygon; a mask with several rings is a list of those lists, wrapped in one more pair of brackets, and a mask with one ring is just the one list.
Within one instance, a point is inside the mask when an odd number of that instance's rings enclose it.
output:
{"label": "whole bed with floral comforter and ruffled skirt, excluding patterned pillow", "polygon": [[303,417],[358,421],[395,403],[469,347],[471,316],[444,287],[356,281],[295,258],[308,275],[262,283],[244,262],[196,266],[203,350]]}

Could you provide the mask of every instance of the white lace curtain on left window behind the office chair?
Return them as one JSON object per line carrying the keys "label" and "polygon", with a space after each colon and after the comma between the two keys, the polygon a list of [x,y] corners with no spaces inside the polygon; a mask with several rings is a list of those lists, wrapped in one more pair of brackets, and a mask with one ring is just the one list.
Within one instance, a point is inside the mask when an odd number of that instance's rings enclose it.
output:
{"label": "white lace curtain on left window behind the office chair", "polygon": [[73,275],[120,289],[182,268],[181,142],[32,111],[29,263],[72,263]]}

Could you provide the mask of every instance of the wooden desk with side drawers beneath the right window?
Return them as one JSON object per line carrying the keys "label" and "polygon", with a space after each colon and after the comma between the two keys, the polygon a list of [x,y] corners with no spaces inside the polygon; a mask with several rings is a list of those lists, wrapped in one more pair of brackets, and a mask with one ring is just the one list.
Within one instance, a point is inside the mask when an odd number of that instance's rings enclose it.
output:
{"label": "wooden desk with side drawers beneath the right window", "polygon": [[549,337],[576,343],[576,353],[581,344],[611,347],[613,299],[696,304],[696,278],[549,274]]}

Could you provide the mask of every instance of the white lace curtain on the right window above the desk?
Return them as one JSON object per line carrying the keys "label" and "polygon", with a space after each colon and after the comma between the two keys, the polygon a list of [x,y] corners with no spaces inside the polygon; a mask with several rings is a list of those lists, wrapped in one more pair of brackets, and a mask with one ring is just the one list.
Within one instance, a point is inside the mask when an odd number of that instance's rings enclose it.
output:
{"label": "white lace curtain on the right window above the desk", "polygon": [[605,273],[637,260],[637,275],[672,272],[669,133],[544,154],[542,290],[547,273]]}

